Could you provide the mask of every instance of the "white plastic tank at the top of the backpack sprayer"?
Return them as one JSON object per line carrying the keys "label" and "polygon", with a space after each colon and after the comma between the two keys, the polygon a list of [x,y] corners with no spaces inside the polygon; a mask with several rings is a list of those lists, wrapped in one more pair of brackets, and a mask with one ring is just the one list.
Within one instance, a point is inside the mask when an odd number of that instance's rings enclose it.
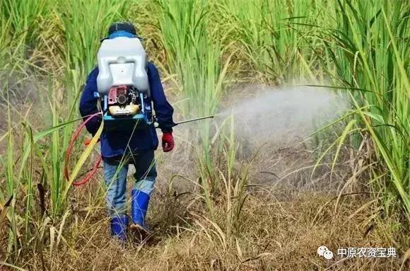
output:
{"label": "white plastic tank at the top of the backpack sprayer", "polygon": [[112,86],[127,85],[150,96],[146,52],[138,38],[103,40],[97,59],[97,88],[100,95],[107,95]]}

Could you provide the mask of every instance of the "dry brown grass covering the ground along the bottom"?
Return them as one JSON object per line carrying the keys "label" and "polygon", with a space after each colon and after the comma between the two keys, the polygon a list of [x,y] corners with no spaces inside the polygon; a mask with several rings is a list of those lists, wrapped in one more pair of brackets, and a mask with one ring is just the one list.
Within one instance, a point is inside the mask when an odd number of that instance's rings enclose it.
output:
{"label": "dry brown grass covering the ground along the bottom", "polygon": [[[122,246],[110,239],[107,221],[100,220],[102,211],[89,217],[78,214],[86,226],[80,233],[76,227],[66,228],[67,243],[57,253],[43,255],[47,270],[398,270],[401,264],[399,258],[326,261],[317,256],[322,245],[334,252],[391,246],[380,235],[384,229],[365,233],[368,209],[352,216],[368,202],[363,196],[342,199],[334,213],[334,201],[326,195],[292,195],[287,200],[250,195],[240,228],[225,242],[223,229],[218,233],[209,223],[200,202],[187,208],[191,195],[157,193],[154,200],[149,219],[160,229],[144,246],[133,241]],[[222,224],[223,207],[218,214]],[[24,268],[41,270],[40,255],[29,257]]]}

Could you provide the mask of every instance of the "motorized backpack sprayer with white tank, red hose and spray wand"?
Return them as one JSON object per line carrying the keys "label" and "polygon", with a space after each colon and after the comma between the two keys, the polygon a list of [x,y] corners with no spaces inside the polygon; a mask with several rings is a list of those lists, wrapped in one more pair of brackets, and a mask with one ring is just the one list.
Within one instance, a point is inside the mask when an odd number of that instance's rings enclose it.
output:
{"label": "motorized backpack sprayer with white tank, red hose and spray wand", "polygon": [[[66,151],[64,175],[69,180],[69,158],[74,149],[74,142],[86,123],[93,117],[102,115],[104,129],[147,129],[154,125],[156,117],[153,115],[151,91],[146,73],[146,52],[139,38],[134,36],[119,35],[116,38],[102,40],[98,51],[98,92],[94,93],[99,98],[102,112],[87,117],[83,124],[76,129],[69,147]],[[212,118],[213,115],[197,117],[192,120],[175,122],[175,125]],[[158,125],[156,126],[158,128]],[[86,143],[87,144],[87,143]],[[83,185],[96,173],[102,157],[95,162],[93,169],[73,185]],[[71,176],[73,178],[73,176]],[[75,178],[75,176],[74,176]]]}

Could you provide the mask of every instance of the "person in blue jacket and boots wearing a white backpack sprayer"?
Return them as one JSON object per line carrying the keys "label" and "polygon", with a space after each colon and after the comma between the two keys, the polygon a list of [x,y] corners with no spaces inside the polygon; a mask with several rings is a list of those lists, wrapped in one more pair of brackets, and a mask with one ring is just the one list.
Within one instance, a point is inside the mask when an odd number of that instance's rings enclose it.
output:
{"label": "person in blue jacket and boots wearing a white backpack sprayer", "polygon": [[[152,108],[153,107],[153,108]],[[100,109],[99,109],[100,108]],[[131,190],[131,229],[147,231],[146,211],[156,182],[154,151],[158,137],[154,120],[162,131],[163,151],[172,151],[173,108],[168,103],[156,66],[146,54],[132,23],[113,23],[98,52],[98,67],[90,72],[79,110],[93,136],[100,136],[107,209],[112,236],[127,239],[127,173],[135,166]],[[153,117],[155,111],[156,117]],[[101,112],[100,115],[95,113]]]}

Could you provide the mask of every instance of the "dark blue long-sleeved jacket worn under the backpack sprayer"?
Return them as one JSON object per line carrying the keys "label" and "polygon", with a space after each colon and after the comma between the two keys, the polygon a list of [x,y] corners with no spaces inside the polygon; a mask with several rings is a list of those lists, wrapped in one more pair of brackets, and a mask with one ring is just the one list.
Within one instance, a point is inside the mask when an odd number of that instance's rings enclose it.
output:
{"label": "dark blue long-sleeved jacket worn under the backpack sprayer", "polygon": [[[151,62],[147,63],[147,74],[149,86],[151,88],[151,99],[153,109],[155,110],[158,125],[163,132],[172,132],[172,113],[174,109],[168,103],[163,86],[160,81],[158,69]],[[98,98],[94,96],[97,92],[97,76],[98,67],[93,69],[88,75],[86,86],[84,87],[83,95],[80,100],[80,113],[83,120],[86,120],[88,115],[98,113]],[[86,128],[91,134],[95,134],[100,127],[101,116],[95,116],[90,120]],[[131,137],[132,135],[132,137]],[[131,140],[130,140],[131,137]],[[127,143],[129,142],[129,149]],[[156,128],[150,125],[148,129],[132,131],[103,131],[101,134],[101,154],[103,158],[113,158],[122,156],[128,151],[138,153],[139,151],[148,151],[157,149],[158,137]]]}

